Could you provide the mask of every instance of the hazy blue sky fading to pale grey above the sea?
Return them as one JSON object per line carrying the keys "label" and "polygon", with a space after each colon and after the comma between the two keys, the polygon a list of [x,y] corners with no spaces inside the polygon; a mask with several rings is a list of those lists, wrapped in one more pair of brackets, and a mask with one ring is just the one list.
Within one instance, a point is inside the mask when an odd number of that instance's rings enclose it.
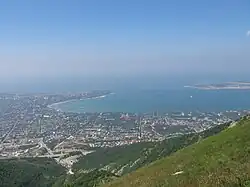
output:
{"label": "hazy blue sky fading to pale grey above the sea", "polygon": [[3,0],[0,78],[249,73],[249,0]]}

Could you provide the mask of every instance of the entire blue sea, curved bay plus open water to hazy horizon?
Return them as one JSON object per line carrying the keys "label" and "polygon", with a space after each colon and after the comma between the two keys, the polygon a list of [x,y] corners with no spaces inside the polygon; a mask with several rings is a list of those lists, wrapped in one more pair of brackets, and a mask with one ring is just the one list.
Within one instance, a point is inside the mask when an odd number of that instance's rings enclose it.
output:
{"label": "entire blue sea, curved bay plus open water to hazy horizon", "polygon": [[[129,77],[129,78],[128,78]],[[250,90],[197,90],[185,85],[248,81],[249,74],[156,75],[90,78],[66,77],[2,85],[16,92],[81,92],[111,90],[105,98],[70,101],[56,107],[70,112],[169,112],[250,109]],[[1,85],[1,84],[0,84]]]}

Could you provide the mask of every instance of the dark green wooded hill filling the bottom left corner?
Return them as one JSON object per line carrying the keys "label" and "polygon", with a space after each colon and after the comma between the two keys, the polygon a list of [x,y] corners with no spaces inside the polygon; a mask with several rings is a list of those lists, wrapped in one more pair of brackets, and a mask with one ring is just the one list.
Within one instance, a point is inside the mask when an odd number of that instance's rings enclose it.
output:
{"label": "dark green wooded hill filling the bottom left corner", "polygon": [[64,173],[52,159],[0,160],[1,187],[49,187]]}

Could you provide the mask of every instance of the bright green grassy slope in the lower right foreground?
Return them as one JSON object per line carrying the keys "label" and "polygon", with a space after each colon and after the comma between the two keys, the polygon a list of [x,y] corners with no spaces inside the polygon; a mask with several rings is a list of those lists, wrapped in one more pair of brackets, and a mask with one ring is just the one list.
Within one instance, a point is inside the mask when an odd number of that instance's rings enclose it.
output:
{"label": "bright green grassy slope in the lower right foreground", "polygon": [[250,180],[250,120],[138,169],[109,187],[247,186]]}

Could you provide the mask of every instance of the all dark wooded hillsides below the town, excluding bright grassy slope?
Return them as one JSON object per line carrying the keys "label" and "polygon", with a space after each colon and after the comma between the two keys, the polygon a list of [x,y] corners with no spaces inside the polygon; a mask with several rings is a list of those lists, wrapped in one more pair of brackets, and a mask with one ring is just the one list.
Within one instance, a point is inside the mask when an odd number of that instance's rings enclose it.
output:
{"label": "all dark wooded hillsides below the town, excluding bright grassy slope", "polygon": [[[162,142],[138,143],[122,147],[98,149],[82,157],[74,165],[74,175],[67,175],[65,168],[53,159],[0,160],[1,187],[92,187],[116,181],[124,175],[147,166],[153,161],[217,134],[228,128],[221,124],[198,134],[174,137]],[[119,180],[118,180],[119,181]]]}

